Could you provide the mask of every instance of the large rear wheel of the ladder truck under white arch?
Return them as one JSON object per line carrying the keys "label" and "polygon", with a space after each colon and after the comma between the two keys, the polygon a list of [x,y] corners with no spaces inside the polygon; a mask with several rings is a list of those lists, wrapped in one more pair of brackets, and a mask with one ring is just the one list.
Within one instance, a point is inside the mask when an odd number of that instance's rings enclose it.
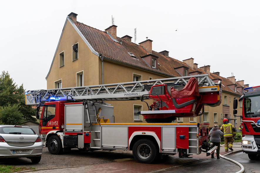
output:
{"label": "large rear wheel of the ladder truck under white arch", "polygon": [[139,163],[152,163],[159,154],[157,145],[150,139],[140,139],[133,145],[133,156]]}

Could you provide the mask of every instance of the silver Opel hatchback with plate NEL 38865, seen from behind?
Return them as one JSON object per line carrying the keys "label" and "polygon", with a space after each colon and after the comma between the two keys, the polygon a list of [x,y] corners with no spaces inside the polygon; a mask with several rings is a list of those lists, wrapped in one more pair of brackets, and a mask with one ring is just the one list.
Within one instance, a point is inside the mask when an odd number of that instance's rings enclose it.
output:
{"label": "silver Opel hatchback with plate NEL 38865, seen from behind", "polygon": [[32,128],[0,125],[0,158],[27,157],[33,163],[39,163],[41,155],[41,137]]}

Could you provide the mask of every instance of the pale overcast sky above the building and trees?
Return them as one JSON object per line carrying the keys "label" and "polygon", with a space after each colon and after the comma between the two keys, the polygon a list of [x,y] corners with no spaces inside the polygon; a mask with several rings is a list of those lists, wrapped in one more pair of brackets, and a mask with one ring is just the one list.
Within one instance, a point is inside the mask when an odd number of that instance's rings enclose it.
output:
{"label": "pale overcast sky above the building and trees", "polygon": [[[1,1],[0,70],[24,89],[46,89],[61,32],[69,13],[104,31],[114,24],[117,36],[136,43],[148,37],[156,52],[177,60],[194,58],[198,67],[222,77],[260,85],[260,1]],[[175,31],[177,30],[177,31]]]}

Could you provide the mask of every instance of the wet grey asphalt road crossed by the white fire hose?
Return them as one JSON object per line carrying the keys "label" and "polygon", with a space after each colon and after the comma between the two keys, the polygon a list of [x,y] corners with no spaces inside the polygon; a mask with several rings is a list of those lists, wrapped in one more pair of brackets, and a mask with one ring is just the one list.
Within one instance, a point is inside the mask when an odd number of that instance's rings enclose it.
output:
{"label": "wet grey asphalt road crossed by the white fire hose", "polygon": [[[250,160],[247,154],[243,152],[238,152],[232,155],[224,156],[229,159],[235,160],[244,166],[245,173],[260,173],[260,160]],[[216,156],[214,159],[205,160],[202,162],[195,162],[193,164],[175,167],[172,169],[166,169],[160,171],[160,173],[169,173],[169,172],[181,172],[181,173],[233,173],[240,171],[241,168],[228,160],[223,158],[217,159]]]}

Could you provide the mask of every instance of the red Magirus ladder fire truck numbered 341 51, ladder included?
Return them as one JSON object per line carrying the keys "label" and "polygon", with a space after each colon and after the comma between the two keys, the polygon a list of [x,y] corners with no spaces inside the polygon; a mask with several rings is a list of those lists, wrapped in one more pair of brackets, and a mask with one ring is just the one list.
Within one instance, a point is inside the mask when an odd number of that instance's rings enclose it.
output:
{"label": "red Magirus ladder fire truck numbered 341 51, ladder included", "polygon": [[[172,123],[177,117],[203,115],[204,105],[221,103],[221,82],[208,75],[174,77],[85,87],[31,90],[26,104],[37,105],[43,147],[51,154],[79,150],[132,150],[140,163],[164,155],[188,157],[209,147],[209,123]],[[148,105],[147,100],[153,104]],[[146,123],[114,123],[107,101],[141,100]],[[39,110],[42,107],[41,115]],[[208,154],[207,154],[208,155]]]}

